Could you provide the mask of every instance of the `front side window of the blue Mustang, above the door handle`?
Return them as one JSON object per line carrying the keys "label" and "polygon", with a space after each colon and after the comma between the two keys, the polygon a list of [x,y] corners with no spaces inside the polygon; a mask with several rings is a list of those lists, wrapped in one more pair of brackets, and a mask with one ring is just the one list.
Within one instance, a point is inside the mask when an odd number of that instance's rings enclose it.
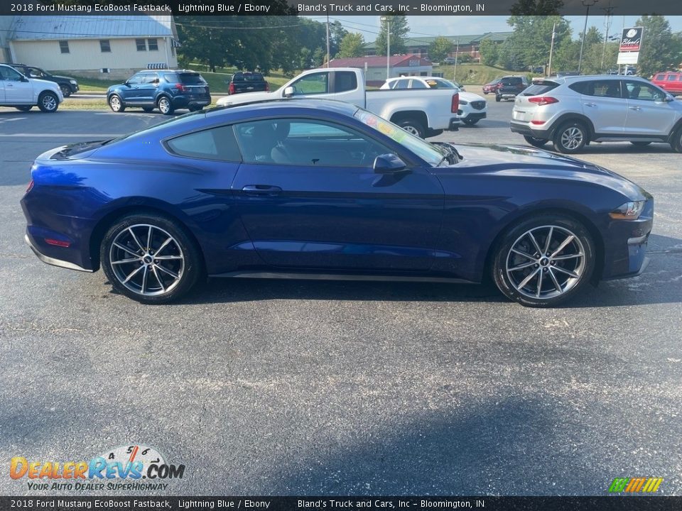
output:
{"label": "front side window of the blue Mustang, above the door handle", "polygon": [[390,153],[350,128],[308,119],[268,119],[237,124],[234,132],[246,163],[298,167],[372,167]]}

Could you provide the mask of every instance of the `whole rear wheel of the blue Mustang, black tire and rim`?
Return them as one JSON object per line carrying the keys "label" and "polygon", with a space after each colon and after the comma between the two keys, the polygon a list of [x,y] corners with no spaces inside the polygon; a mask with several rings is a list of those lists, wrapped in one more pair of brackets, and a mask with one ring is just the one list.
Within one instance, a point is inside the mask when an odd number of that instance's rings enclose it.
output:
{"label": "whole rear wheel of the blue Mustang, black tire and rim", "polygon": [[128,214],[114,222],[99,257],[114,290],[144,304],[178,300],[202,274],[200,251],[185,228],[156,214]]}

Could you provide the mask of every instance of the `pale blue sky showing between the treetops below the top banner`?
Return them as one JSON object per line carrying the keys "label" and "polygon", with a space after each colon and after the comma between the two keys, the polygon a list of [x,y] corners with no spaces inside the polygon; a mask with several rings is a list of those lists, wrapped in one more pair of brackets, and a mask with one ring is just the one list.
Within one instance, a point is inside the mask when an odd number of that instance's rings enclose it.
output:
{"label": "pale blue sky showing between the treetops below the top banner", "polygon": [[[678,0],[679,1],[679,0]],[[326,16],[305,16],[316,21],[326,21]],[[408,36],[425,35],[472,35],[485,32],[508,32],[508,16],[407,16],[410,33]],[[609,35],[620,35],[621,29],[634,26],[638,16],[612,16]],[[573,38],[583,31],[585,16],[566,16],[573,28]],[[682,32],[682,16],[666,16],[673,32]],[[360,32],[367,42],[377,38],[379,32],[379,16],[330,16],[330,21],[340,21],[344,28],[352,32]],[[588,28],[595,26],[604,33],[605,16],[589,16]],[[646,38],[646,34],[644,35]]]}

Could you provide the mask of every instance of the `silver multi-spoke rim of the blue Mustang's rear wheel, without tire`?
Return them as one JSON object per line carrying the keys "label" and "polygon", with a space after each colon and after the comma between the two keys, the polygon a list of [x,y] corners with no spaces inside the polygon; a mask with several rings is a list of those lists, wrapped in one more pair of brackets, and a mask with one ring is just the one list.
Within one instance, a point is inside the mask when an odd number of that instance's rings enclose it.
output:
{"label": "silver multi-spoke rim of the blue Mustang's rear wheel, without tire", "polygon": [[121,285],[144,296],[171,292],[185,271],[180,243],[149,224],[136,224],[119,232],[109,248],[109,260]]}

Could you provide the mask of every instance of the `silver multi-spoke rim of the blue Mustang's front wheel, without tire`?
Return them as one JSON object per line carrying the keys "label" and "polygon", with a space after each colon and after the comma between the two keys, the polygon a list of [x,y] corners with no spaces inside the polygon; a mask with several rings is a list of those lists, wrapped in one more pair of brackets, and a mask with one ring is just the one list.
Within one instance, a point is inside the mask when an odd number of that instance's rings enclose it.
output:
{"label": "silver multi-spoke rim of the blue Mustang's front wheel, without tire", "polygon": [[583,278],[585,247],[565,227],[534,227],[511,245],[505,270],[521,295],[548,300],[565,294]]}

